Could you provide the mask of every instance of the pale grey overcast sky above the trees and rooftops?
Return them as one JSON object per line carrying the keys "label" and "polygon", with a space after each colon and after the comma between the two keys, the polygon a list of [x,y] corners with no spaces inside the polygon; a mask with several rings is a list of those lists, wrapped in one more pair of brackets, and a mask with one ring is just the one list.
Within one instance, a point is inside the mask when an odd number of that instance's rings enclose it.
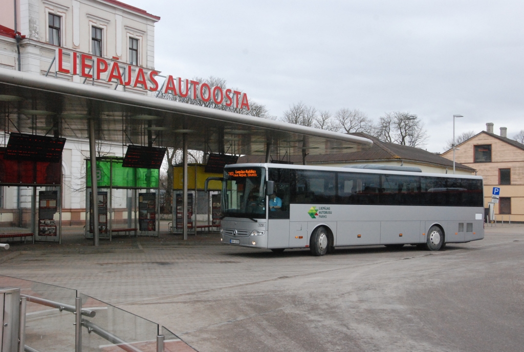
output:
{"label": "pale grey overcast sky above the trees and rooftops", "polygon": [[486,122],[524,129],[522,1],[124,0],[161,16],[155,66],[215,76],[272,115],[302,101],[417,114],[442,152]]}

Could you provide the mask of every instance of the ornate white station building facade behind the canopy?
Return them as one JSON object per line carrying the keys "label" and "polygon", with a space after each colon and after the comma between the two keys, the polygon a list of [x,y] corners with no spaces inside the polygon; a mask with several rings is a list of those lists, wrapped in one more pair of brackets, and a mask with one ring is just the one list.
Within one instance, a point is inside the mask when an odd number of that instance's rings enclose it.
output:
{"label": "ornate white station building facade behind the canopy", "polygon": [[[116,0],[0,0],[0,4],[0,69],[146,94],[142,89],[104,81],[85,82],[79,76],[56,72],[55,56],[57,48],[63,48],[117,61],[123,67],[131,65],[132,72],[140,67],[153,70],[155,24],[160,17]],[[63,65],[71,68],[69,60],[64,60]],[[8,136],[0,137],[0,146],[5,146]],[[100,151],[103,156],[123,156],[126,147],[103,142]],[[85,222],[84,159],[88,156],[88,140],[67,139],[62,154],[63,225]],[[32,190],[0,188],[0,226],[27,223]],[[125,190],[115,192],[113,218],[126,216],[126,198]]]}

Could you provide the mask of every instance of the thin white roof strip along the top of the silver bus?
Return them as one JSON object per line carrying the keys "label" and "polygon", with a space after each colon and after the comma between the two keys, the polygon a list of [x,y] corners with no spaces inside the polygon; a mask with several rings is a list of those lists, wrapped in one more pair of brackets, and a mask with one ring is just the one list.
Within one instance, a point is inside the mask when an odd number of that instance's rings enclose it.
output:
{"label": "thin white roof strip along the top of the silver bus", "polygon": [[288,168],[288,169],[303,169],[303,170],[323,170],[323,171],[339,171],[345,173],[361,173],[361,174],[380,174],[380,175],[413,175],[413,176],[436,176],[436,177],[455,177],[455,178],[475,178],[482,179],[482,176],[474,175],[458,175],[458,174],[436,174],[436,173],[420,173],[420,172],[407,172],[407,171],[393,171],[393,170],[375,170],[375,169],[357,169],[350,167],[333,167],[333,166],[316,166],[316,165],[294,165],[294,164],[273,164],[273,163],[246,163],[246,164],[231,164],[226,165],[226,168],[230,167],[272,167],[272,168]]}

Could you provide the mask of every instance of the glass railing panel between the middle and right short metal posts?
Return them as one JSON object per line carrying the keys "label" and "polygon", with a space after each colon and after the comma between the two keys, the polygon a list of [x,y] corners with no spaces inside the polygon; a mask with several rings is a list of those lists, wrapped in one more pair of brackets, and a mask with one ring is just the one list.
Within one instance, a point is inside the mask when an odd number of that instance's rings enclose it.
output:
{"label": "glass railing panel between the middle and right short metal posts", "polygon": [[82,352],[132,350],[133,347],[142,351],[156,350],[158,324],[93,297],[84,294],[80,297],[82,308],[96,312],[94,317],[83,318]]}

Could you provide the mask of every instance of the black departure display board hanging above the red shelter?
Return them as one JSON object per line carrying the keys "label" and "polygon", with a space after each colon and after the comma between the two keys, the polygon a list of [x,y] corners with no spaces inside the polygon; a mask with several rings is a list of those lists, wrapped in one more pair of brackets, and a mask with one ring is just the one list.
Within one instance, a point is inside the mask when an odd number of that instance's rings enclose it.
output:
{"label": "black departure display board hanging above the red shelter", "polygon": [[59,163],[65,138],[11,133],[4,159],[13,161]]}

